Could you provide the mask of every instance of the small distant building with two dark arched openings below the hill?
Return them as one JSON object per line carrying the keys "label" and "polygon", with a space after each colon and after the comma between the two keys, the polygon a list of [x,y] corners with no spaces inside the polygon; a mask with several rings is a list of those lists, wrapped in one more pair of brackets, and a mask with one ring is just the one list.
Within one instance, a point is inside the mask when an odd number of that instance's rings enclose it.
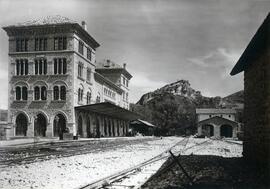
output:
{"label": "small distant building with two dark arched openings below the hill", "polygon": [[196,109],[198,135],[237,137],[238,125],[234,109]]}

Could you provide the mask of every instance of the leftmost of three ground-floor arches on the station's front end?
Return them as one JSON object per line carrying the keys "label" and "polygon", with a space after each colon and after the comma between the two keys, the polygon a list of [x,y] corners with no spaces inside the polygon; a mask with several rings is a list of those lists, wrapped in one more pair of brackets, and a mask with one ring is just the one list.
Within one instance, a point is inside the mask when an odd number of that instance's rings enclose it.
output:
{"label": "leftmost of three ground-floor arches on the station's front end", "polygon": [[16,136],[26,136],[27,127],[28,127],[28,118],[24,113],[19,113],[16,116],[16,126],[15,126],[15,135]]}

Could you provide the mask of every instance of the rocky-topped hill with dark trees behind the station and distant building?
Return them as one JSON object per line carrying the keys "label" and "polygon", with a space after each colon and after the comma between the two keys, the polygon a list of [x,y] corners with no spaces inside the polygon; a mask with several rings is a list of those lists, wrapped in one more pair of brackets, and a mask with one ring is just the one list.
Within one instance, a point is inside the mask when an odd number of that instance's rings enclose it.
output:
{"label": "rocky-topped hill with dark trees behind the station and distant building", "polygon": [[131,110],[163,129],[175,134],[196,130],[196,108],[243,108],[243,91],[226,97],[206,97],[191,87],[189,81],[179,80],[144,94]]}

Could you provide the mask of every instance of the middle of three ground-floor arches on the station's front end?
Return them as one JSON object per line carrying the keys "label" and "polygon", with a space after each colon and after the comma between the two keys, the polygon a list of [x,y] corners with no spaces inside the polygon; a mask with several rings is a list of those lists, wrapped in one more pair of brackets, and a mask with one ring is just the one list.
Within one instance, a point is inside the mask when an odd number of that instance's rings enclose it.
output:
{"label": "middle of three ground-floor arches on the station's front end", "polygon": [[43,113],[38,113],[34,118],[34,136],[45,137],[48,119]]}

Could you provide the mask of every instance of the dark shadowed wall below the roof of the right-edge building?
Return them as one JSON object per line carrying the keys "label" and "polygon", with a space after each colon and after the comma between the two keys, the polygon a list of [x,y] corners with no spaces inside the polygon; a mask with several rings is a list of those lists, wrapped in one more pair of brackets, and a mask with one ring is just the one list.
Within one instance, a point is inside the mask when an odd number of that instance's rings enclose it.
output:
{"label": "dark shadowed wall below the roof of the right-edge building", "polygon": [[244,73],[243,155],[270,170],[270,56],[269,50]]}

